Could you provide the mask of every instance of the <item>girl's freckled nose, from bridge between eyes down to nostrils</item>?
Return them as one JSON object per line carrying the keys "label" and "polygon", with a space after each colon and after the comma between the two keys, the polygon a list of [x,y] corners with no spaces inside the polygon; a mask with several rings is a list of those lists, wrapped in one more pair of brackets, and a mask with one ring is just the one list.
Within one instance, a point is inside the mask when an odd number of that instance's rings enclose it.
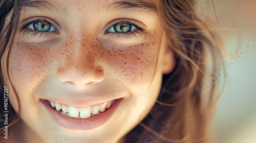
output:
{"label": "girl's freckled nose, from bridge between eyes down to nostrils", "polygon": [[[65,58],[60,63],[56,76],[61,82],[84,86],[101,82],[103,69],[98,65],[96,38],[75,33],[66,40]],[[69,46],[68,46],[69,45]]]}

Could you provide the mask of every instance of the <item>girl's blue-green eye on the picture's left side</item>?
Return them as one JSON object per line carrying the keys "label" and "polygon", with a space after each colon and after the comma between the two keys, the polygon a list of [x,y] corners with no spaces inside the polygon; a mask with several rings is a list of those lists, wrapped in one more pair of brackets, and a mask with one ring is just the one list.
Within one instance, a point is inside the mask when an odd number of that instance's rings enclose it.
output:
{"label": "girl's blue-green eye on the picture's left side", "polygon": [[37,21],[31,23],[27,28],[30,28],[37,32],[56,32],[57,29],[47,21]]}

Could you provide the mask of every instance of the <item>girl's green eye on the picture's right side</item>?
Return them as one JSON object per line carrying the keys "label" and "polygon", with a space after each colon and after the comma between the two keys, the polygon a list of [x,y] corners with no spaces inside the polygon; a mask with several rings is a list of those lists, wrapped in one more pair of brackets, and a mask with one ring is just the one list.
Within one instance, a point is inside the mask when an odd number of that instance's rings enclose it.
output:
{"label": "girl's green eye on the picture's right side", "polygon": [[129,23],[117,23],[110,27],[108,33],[129,33],[137,30],[137,28]]}

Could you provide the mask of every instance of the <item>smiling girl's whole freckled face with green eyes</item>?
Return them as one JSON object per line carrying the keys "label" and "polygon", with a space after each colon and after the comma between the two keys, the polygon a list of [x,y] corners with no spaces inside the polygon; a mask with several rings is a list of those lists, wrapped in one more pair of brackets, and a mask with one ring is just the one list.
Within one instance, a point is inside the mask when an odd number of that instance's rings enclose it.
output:
{"label": "smiling girl's whole freckled face with green eyes", "polygon": [[26,3],[10,47],[10,81],[7,52],[2,59],[25,132],[47,142],[118,141],[151,110],[174,65],[158,2]]}

